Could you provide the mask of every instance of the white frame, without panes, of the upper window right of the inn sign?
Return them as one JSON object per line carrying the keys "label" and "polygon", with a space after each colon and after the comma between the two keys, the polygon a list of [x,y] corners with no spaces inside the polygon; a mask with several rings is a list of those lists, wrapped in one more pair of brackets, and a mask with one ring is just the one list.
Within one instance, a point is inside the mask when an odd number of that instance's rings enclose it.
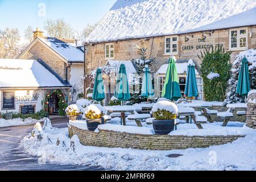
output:
{"label": "white frame, without panes, of the upper window right of the inn sign", "polygon": [[[246,30],[245,35],[241,35],[240,31],[241,30]],[[232,39],[232,31],[237,31],[237,47],[232,48],[231,46],[231,39]],[[245,47],[240,47],[240,39],[241,38],[246,38],[246,46]],[[230,51],[245,51],[248,47],[248,28],[233,28],[229,30],[229,49]]]}

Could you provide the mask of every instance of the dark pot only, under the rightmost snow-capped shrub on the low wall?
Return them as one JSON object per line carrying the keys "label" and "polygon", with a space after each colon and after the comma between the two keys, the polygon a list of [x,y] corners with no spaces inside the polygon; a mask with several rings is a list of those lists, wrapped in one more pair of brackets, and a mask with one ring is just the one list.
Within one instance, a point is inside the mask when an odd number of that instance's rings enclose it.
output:
{"label": "dark pot only, under the rightmost snow-capped shrub on the low wall", "polygon": [[175,119],[153,120],[153,127],[156,135],[168,135],[174,131]]}

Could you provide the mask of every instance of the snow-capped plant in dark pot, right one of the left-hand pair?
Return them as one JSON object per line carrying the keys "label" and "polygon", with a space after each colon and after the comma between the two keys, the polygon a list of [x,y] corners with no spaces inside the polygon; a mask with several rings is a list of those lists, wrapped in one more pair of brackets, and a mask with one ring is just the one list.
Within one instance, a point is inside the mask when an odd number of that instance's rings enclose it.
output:
{"label": "snow-capped plant in dark pot, right one of the left-hand pair", "polygon": [[99,104],[92,104],[85,108],[84,114],[89,131],[94,131],[98,125],[104,124],[105,111],[104,107]]}

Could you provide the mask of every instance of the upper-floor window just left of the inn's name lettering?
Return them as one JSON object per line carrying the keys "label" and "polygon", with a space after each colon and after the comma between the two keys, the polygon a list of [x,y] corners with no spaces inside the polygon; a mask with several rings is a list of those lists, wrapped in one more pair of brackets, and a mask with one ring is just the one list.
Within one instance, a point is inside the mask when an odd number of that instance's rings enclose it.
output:
{"label": "upper-floor window just left of the inn's name lettering", "polygon": [[178,46],[177,46],[177,36],[166,37],[164,43],[164,54],[166,55],[177,55]]}

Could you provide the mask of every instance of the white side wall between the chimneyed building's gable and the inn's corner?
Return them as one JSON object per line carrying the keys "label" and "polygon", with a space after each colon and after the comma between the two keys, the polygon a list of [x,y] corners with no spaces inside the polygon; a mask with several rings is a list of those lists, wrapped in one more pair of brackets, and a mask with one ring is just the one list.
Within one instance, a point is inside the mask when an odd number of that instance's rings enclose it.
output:
{"label": "white side wall between the chimneyed building's gable and the inn's corner", "polygon": [[84,65],[71,65],[71,78],[69,80],[69,83],[72,86],[76,85],[76,88],[79,90],[73,97],[73,101],[77,100],[77,95],[79,93],[84,93],[84,81],[81,80],[82,76],[84,76]]}

